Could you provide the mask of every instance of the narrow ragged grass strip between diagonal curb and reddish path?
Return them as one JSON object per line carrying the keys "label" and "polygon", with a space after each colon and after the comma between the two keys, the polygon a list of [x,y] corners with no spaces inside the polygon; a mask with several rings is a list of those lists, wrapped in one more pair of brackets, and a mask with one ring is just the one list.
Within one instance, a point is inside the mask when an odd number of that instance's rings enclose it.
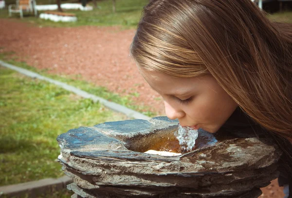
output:
{"label": "narrow ragged grass strip between diagonal curb and reddish path", "polygon": [[32,66],[28,66],[26,63],[24,62],[18,62],[16,61],[17,57],[13,56],[13,52],[4,52],[4,53],[0,53],[0,60],[3,60],[7,63],[10,63],[12,65],[15,66],[19,66],[34,72],[37,72],[43,76],[52,78],[54,80],[58,80],[61,82],[65,82],[68,83],[72,86],[75,86],[79,89],[82,89],[84,91],[87,91],[91,94],[94,94],[96,96],[99,96],[101,98],[107,99],[109,101],[121,104],[123,106],[126,106],[130,109],[133,109],[135,111],[138,111],[144,115],[147,115],[149,117],[153,117],[155,115],[158,115],[156,112],[151,112],[150,111],[150,107],[149,106],[145,106],[145,105],[135,105],[133,99],[139,97],[139,93],[137,93],[136,90],[133,90],[132,93],[130,93],[127,96],[120,96],[119,94],[116,93],[112,93],[110,92],[106,87],[102,87],[102,86],[96,86],[91,82],[86,82],[81,80],[82,76],[80,75],[53,75],[53,74],[49,74],[49,70],[48,69],[44,69],[44,70],[37,70],[35,67]]}

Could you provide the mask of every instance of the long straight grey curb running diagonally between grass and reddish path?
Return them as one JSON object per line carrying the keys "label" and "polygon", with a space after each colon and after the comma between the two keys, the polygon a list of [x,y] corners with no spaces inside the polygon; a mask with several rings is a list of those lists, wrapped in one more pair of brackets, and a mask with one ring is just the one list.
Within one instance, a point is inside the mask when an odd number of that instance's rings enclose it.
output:
{"label": "long straight grey curb running diagonally between grass and reddish path", "polygon": [[141,113],[139,113],[137,111],[129,109],[129,108],[127,108],[127,107],[125,107],[123,105],[117,104],[115,102],[110,102],[110,101],[108,101],[106,99],[103,99],[101,97],[98,97],[98,96],[95,96],[93,94],[90,94],[90,93],[88,93],[86,91],[78,89],[78,88],[76,88],[74,86],[71,86],[69,84],[66,84],[64,82],[60,82],[60,81],[56,81],[56,80],[44,77],[44,76],[39,75],[39,74],[37,74],[35,72],[32,72],[30,70],[27,70],[27,69],[24,69],[24,68],[21,68],[21,67],[18,67],[18,66],[14,66],[14,65],[11,65],[11,64],[8,64],[8,63],[5,63],[5,62],[3,62],[1,60],[0,60],[0,65],[4,66],[4,67],[7,67],[9,69],[13,69],[15,71],[18,71],[19,73],[24,74],[26,76],[29,76],[31,78],[37,78],[37,79],[40,79],[40,80],[43,80],[43,81],[47,81],[47,82],[53,83],[53,84],[55,84],[55,85],[57,85],[59,87],[62,87],[63,89],[71,91],[74,94],[76,94],[78,96],[81,96],[83,98],[92,99],[94,102],[99,101],[101,104],[105,105],[106,107],[110,108],[111,110],[116,111],[116,112],[120,112],[122,114],[125,114],[128,117],[132,117],[132,118],[135,118],[135,119],[145,119],[145,120],[150,119],[150,117],[148,117],[146,115],[143,115],[143,114],[141,114]]}

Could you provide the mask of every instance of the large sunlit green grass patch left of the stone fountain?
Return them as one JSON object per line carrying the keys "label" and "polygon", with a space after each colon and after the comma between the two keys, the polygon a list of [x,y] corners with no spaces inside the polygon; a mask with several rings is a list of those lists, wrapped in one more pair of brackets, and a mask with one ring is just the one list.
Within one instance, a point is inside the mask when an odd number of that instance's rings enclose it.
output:
{"label": "large sunlit green grass patch left of the stone fountain", "polygon": [[58,134],[126,119],[90,99],[0,67],[0,185],[63,176]]}

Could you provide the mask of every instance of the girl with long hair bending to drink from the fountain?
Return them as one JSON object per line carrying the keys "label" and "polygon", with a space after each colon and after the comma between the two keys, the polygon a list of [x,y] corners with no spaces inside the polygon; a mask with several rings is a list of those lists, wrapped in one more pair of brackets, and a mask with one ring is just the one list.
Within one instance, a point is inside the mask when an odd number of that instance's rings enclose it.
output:
{"label": "girl with long hair bending to drink from the fountain", "polygon": [[283,150],[278,181],[289,197],[292,24],[271,22],[251,0],[152,0],[130,50],[170,119],[271,137]]}

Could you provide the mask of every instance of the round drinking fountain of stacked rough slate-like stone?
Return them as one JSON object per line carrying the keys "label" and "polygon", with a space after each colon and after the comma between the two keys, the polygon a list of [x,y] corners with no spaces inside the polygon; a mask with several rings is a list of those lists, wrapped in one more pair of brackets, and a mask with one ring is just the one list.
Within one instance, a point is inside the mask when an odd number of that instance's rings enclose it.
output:
{"label": "round drinking fountain of stacked rough slate-like stone", "polygon": [[[59,162],[73,179],[72,198],[258,198],[277,178],[281,155],[269,139],[246,132],[199,131],[196,147],[181,152],[178,121],[106,122],[58,136]],[[228,134],[228,135],[226,135]]]}

